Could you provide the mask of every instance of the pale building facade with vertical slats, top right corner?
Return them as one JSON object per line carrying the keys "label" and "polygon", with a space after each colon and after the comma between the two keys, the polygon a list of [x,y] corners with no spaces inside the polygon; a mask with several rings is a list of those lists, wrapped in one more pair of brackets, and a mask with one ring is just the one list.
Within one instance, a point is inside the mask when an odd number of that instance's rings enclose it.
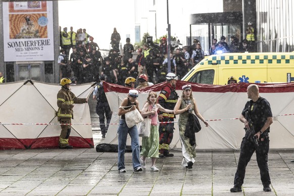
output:
{"label": "pale building facade with vertical slats, top right corner", "polygon": [[294,51],[294,1],[257,0],[257,50]]}

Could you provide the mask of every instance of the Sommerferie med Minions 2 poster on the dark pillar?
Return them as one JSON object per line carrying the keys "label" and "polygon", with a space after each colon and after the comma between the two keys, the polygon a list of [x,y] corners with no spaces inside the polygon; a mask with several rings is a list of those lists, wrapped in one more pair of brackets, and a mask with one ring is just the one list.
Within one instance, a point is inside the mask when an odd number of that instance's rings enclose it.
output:
{"label": "Sommerferie med Minions 2 poster on the dark pillar", "polygon": [[4,61],[54,61],[52,2],[3,3]]}

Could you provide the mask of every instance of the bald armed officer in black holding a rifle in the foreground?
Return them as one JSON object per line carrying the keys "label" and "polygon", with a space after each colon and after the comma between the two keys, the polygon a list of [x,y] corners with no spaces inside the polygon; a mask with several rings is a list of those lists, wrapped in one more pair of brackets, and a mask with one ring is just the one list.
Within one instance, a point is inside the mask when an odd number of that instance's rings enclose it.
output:
{"label": "bald armed officer in black holding a rifle in the foreground", "polygon": [[[257,164],[263,190],[271,191],[270,176],[268,170],[269,131],[273,123],[273,117],[269,102],[259,95],[259,87],[251,84],[247,88],[248,101],[242,111],[239,120],[244,123],[247,131],[241,142],[240,157],[234,178],[234,187],[231,192],[242,191],[241,186],[245,177],[246,166],[254,151],[256,152]],[[247,115],[247,114],[248,115]],[[257,140],[257,142],[256,142]]]}

